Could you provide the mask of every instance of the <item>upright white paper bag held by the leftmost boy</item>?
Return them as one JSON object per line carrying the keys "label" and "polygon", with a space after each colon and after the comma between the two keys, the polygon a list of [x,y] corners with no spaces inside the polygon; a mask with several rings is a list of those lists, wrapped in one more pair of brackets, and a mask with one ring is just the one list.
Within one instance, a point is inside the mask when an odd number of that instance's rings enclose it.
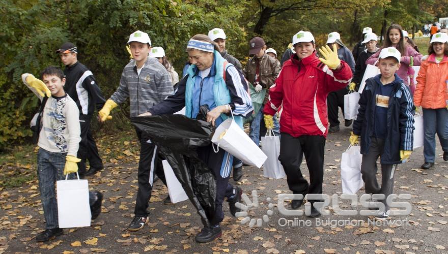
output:
{"label": "upright white paper bag held by the leftmost boy", "polygon": [[[78,175],[78,173],[76,173]],[[78,179],[56,181],[59,228],[90,227],[89,183]]]}

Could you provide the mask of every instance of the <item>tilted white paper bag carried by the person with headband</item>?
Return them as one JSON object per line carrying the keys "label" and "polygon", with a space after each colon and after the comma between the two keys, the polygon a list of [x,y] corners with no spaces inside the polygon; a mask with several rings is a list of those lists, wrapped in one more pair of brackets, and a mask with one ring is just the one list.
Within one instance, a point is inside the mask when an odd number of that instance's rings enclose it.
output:
{"label": "tilted white paper bag carried by the person with headband", "polygon": [[[220,137],[224,131],[226,131],[226,134]],[[212,142],[218,147],[215,152],[222,148],[239,158],[243,163],[257,168],[261,168],[267,159],[266,154],[247,136],[233,118],[223,121],[216,128]]]}

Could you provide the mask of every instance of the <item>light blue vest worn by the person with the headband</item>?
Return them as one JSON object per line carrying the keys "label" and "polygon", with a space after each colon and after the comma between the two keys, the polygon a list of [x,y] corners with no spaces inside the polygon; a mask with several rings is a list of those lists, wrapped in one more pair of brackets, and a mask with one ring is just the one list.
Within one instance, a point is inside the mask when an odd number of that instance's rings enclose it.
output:
{"label": "light blue vest worn by the person with the headband", "polygon": [[[214,68],[215,70],[215,76],[214,76],[214,83],[213,83],[213,96],[214,96],[214,101],[216,106],[222,106],[222,105],[226,105],[229,104],[231,102],[231,97],[230,97],[230,91],[227,88],[226,85],[226,80],[224,80],[223,78],[223,74],[224,74],[224,61],[226,61],[226,59],[222,58],[221,54],[218,51],[214,51],[213,53],[214,56],[214,60],[213,60],[213,65],[212,65],[212,69]],[[228,63],[226,65],[226,69],[231,66],[231,63]],[[186,83],[186,88],[185,88],[185,116],[187,117],[192,117],[192,107],[193,107],[193,102],[194,103],[199,103],[199,98],[193,98],[193,87],[194,87],[194,82],[195,82],[195,72],[196,72],[196,66],[195,65],[191,65],[188,68],[188,79],[187,79],[187,83]],[[226,114],[221,114],[221,119],[222,121],[226,120],[227,118],[229,118],[228,115]],[[241,129],[243,128],[243,117],[242,116],[234,116],[235,118],[235,122],[241,127]]]}

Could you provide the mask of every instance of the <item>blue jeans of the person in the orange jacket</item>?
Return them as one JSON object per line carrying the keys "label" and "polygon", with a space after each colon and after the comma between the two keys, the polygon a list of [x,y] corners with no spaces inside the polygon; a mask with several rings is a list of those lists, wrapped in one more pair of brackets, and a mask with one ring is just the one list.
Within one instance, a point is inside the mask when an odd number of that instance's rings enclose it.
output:
{"label": "blue jeans of the person in the orange jacket", "polygon": [[448,110],[423,109],[423,130],[425,133],[423,155],[425,162],[434,163],[436,152],[435,134],[444,152],[448,152]]}

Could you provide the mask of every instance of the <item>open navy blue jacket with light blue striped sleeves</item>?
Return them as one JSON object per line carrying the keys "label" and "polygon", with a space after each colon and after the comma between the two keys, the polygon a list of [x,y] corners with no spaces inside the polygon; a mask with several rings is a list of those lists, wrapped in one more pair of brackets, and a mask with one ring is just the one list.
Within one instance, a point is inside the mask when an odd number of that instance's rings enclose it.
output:
{"label": "open navy blue jacket with light blue striped sleeves", "polygon": [[[361,154],[368,154],[372,141],[375,118],[375,94],[381,74],[366,80],[359,99],[358,116],[353,122],[353,133],[361,136]],[[394,91],[387,109],[387,135],[384,137],[382,164],[399,164],[400,150],[412,151],[415,108],[409,87],[395,74]]]}

